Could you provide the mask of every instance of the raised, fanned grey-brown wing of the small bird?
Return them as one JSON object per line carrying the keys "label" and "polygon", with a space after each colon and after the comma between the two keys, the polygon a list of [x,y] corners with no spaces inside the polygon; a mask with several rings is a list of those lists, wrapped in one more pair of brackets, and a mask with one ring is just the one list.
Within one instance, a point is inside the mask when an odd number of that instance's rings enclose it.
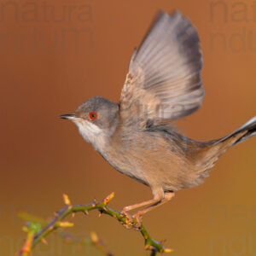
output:
{"label": "raised, fanned grey-brown wing of the small bird", "polygon": [[169,123],[201,106],[201,49],[197,31],[175,11],[160,12],[135,49],[121,91],[119,119],[125,127]]}

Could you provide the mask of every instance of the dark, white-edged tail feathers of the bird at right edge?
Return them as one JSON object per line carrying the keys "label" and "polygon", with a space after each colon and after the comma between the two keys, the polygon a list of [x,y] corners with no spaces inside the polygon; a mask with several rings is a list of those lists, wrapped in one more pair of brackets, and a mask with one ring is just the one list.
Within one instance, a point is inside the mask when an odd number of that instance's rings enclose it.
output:
{"label": "dark, white-edged tail feathers of the bird at right edge", "polygon": [[241,125],[239,129],[230,133],[228,136],[219,139],[218,143],[230,141],[230,146],[234,146],[254,135],[256,135],[256,116],[248,120],[247,123]]}

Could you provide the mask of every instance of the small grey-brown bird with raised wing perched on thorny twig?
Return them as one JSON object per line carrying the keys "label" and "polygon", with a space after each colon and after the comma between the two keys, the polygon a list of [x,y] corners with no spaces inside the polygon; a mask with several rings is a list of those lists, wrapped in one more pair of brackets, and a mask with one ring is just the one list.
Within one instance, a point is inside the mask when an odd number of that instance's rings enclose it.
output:
{"label": "small grey-brown bird with raised wing perched on thorny twig", "polygon": [[220,139],[199,142],[179,134],[175,121],[201,107],[201,45],[190,21],[174,11],[156,16],[142,44],[134,49],[119,102],[90,98],[74,113],[61,115],[78,126],[117,171],[147,185],[153,199],[120,212],[143,207],[143,214],[178,189],[204,181],[221,154],[256,134],[256,116]]}

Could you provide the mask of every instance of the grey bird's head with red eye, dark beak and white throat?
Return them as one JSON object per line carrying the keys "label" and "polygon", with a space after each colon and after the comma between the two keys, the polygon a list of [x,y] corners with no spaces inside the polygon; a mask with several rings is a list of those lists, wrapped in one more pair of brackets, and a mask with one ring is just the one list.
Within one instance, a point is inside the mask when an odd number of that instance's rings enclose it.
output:
{"label": "grey bird's head with red eye, dark beak and white throat", "polygon": [[60,118],[72,120],[82,137],[100,150],[101,143],[115,131],[118,116],[118,103],[96,96],[80,105],[74,113],[62,114]]}

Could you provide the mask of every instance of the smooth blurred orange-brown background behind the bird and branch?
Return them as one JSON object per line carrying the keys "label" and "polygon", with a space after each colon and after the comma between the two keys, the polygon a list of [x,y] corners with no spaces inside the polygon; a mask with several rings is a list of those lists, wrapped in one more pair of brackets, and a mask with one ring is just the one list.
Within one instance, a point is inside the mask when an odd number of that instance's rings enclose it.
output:
{"label": "smooth blurred orange-brown background behind the bird and branch", "polygon": [[[77,128],[58,119],[91,96],[114,102],[133,48],[159,9],[179,9],[197,27],[203,51],[206,97],[180,122],[197,140],[223,137],[256,114],[256,4],[210,0],[2,1],[0,6],[0,254],[14,255],[26,234],[17,212],[49,218],[63,207],[102,200],[115,192],[119,210],[151,198],[150,190],[113,170]],[[201,186],[178,191],[145,215],[155,240],[172,255],[256,254],[256,138],[222,156]],[[113,218],[77,214],[73,235],[90,230],[115,255],[148,255],[143,238]],[[66,245],[51,235],[33,255],[102,255]]]}

